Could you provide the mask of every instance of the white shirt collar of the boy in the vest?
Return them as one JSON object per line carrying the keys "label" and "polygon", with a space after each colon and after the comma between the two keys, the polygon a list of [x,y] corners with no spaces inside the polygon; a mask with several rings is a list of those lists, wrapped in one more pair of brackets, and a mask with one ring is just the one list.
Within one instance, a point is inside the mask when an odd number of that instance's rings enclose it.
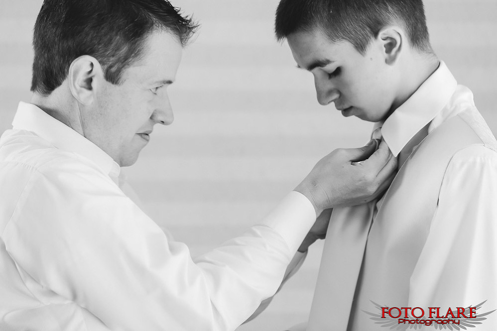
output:
{"label": "white shirt collar of the boy in the vest", "polygon": [[438,69],[414,94],[384,121],[377,122],[381,135],[397,156],[412,137],[447,105],[456,91],[457,82],[443,61]]}

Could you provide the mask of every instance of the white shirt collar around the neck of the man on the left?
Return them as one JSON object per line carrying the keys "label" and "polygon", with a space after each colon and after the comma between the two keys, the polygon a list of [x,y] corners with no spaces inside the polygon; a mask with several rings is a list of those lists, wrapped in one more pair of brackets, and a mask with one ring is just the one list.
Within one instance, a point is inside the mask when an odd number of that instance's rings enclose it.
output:
{"label": "white shirt collar around the neck of the man on the left", "polygon": [[12,126],[14,129],[34,132],[59,149],[93,161],[115,180],[119,176],[121,168],[109,154],[35,105],[20,102]]}

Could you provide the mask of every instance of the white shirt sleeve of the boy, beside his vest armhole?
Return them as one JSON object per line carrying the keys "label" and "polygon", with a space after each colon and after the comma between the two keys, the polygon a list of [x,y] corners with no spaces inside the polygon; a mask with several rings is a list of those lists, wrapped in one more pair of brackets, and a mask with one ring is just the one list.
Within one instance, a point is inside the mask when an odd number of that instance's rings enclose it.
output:
{"label": "white shirt sleeve of the boy, beside his vest armhole", "polygon": [[[410,281],[409,307],[497,308],[497,153],[484,146],[449,163],[430,232]],[[478,330],[494,330],[497,313]],[[482,322],[482,321],[481,321]]]}

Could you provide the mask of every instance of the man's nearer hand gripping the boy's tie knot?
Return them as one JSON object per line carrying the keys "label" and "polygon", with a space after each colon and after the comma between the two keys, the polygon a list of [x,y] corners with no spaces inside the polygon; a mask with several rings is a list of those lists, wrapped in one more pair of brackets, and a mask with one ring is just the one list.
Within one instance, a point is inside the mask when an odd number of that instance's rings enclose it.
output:
{"label": "man's nearer hand gripping the boy's tie knot", "polygon": [[388,188],[397,160],[383,141],[361,148],[339,148],[322,158],[294,191],[314,206],[316,215],[338,206],[355,206],[372,201]]}

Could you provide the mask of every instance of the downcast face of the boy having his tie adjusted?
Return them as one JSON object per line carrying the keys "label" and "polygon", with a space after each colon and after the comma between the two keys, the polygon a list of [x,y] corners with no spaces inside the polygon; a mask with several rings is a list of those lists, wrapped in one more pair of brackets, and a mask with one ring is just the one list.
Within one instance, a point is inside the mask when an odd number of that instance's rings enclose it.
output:
{"label": "downcast face of the boy having his tie adjusted", "polygon": [[344,116],[372,122],[388,117],[397,84],[380,40],[373,40],[362,55],[350,42],[331,42],[317,30],[292,33],[287,39],[298,67],[313,74],[321,105],[334,102]]}

